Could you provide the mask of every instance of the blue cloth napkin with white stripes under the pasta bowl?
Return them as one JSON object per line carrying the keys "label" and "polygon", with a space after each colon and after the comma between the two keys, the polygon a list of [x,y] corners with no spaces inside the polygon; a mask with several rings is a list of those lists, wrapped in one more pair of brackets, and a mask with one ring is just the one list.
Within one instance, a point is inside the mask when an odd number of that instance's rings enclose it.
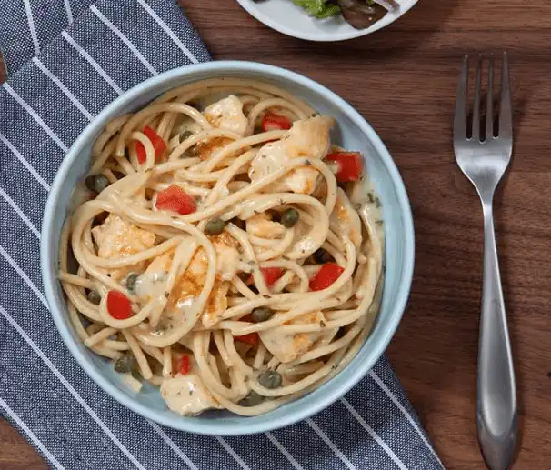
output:
{"label": "blue cloth napkin with white stripes under the pasta bowl", "polygon": [[305,422],[189,435],[100,390],[69,355],[40,279],[41,219],[67,148],[125,90],[210,60],[175,0],[0,0],[0,410],[52,468],[439,470],[385,358]]}

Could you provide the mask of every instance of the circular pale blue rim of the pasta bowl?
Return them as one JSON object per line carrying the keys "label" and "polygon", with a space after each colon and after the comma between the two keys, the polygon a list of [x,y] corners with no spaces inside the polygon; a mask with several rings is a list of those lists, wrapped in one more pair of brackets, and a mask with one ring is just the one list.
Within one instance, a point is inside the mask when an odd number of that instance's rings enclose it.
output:
{"label": "circular pale blue rim of the pasta bowl", "polygon": [[[57,308],[55,301],[57,279],[52,278],[49,268],[49,266],[53,265],[53,255],[55,250],[57,250],[56,246],[52,246],[52,226],[55,221],[55,207],[59,201],[61,186],[70,168],[78,158],[79,153],[86,141],[90,140],[92,135],[97,135],[98,132],[105,127],[107,120],[112,118],[112,115],[116,115],[117,111],[119,111],[123,105],[131,102],[135,97],[143,95],[150,89],[165,82],[177,80],[178,78],[185,78],[188,75],[192,75],[193,77],[193,75],[200,75],[208,71],[215,71],[216,73],[226,71],[228,74],[235,72],[251,73],[259,75],[260,79],[262,79],[264,75],[264,78],[268,80],[281,79],[291,81],[296,85],[313,88],[316,94],[323,95],[326,100],[332,102],[333,105],[337,105],[343,113],[360,128],[361,132],[366,135],[371,145],[375,148],[377,154],[380,155],[382,163],[385,165],[386,171],[393,181],[394,189],[396,191],[396,198],[400,206],[401,217],[405,227],[404,265],[401,273],[400,284],[396,292],[396,301],[391,306],[392,312],[389,315],[392,317],[392,321],[386,330],[384,330],[384,335],[379,336],[374,348],[370,350],[371,360],[366,360],[357,365],[355,368],[348,368],[348,365],[346,368],[346,384],[338,389],[331,390],[331,393],[320,395],[317,401],[310,406],[305,406],[294,414],[281,415],[270,420],[265,420],[264,422],[249,425],[221,425],[220,423],[216,423],[214,421],[201,421],[199,419],[194,420],[193,423],[191,423],[187,420],[180,419],[182,416],[179,415],[174,415],[174,417],[158,415],[155,412],[155,409],[148,408],[147,406],[138,403],[133,398],[126,395],[125,392],[119,389],[116,385],[110,383],[105,378],[105,375],[103,375],[99,369],[96,369],[96,366],[92,360],[86,357],[85,353],[80,350],[79,342],[70,330],[70,322],[65,321],[65,317],[62,314],[62,309]],[[95,384],[99,385],[100,388],[102,388],[108,395],[111,395],[120,404],[125,405],[138,415],[142,415],[143,417],[155,421],[160,425],[166,425],[173,429],[191,432],[198,435],[251,435],[292,425],[315,415],[345,395],[369,372],[373,365],[376,364],[376,361],[384,354],[387,345],[390,343],[392,336],[395,334],[396,328],[399,325],[406,308],[406,303],[413,281],[415,258],[414,237],[413,215],[411,212],[409,199],[406,194],[406,187],[401,175],[398,172],[396,164],[386,149],[386,146],[376,134],[375,130],[366,122],[366,119],[352,107],[352,105],[349,105],[343,98],[326,88],[326,86],[320,85],[316,81],[304,75],[299,75],[296,72],[289,71],[285,68],[256,62],[215,61],[204,64],[183,65],[165,73],[148,78],[144,82],[127,90],[123,95],[117,97],[110,105],[107,105],[102,112],[96,115],[88,125],[86,125],[85,129],[76,138],[75,143],[71,145],[70,149],[66,153],[65,159],[55,175],[50,194],[48,195],[45,205],[40,243],[41,273],[45,288],[45,296],[48,305],[50,306],[50,312],[65,345],[78,364],[85,370],[85,373],[89,375]],[[331,381],[327,382],[327,384],[330,383]]]}

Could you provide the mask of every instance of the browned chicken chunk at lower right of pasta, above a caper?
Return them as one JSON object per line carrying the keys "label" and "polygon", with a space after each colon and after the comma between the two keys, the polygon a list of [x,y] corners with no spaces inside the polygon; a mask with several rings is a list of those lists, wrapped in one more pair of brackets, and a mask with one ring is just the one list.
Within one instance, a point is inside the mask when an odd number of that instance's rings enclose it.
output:
{"label": "browned chicken chunk at lower right of pasta, above a caper", "polygon": [[[276,314],[272,319],[281,316]],[[319,310],[306,315],[301,315],[294,320],[286,322],[285,325],[303,325],[303,324],[318,324],[324,325],[326,319],[323,313]],[[323,335],[319,332],[313,333],[286,333],[281,327],[261,331],[258,333],[265,348],[274,355],[282,363],[294,361],[299,355],[304,355],[310,350],[312,345]]]}

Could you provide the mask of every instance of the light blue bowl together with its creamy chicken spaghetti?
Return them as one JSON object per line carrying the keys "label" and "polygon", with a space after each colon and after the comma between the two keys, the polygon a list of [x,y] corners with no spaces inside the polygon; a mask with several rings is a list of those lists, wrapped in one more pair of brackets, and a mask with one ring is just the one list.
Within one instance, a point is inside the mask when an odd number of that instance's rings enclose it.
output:
{"label": "light blue bowl together with its creamy chicken spaghetti", "polygon": [[235,61],[157,75],[97,115],[41,243],[86,373],[206,435],[290,425],[344,395],[396,331],[414,264],[405,187],[364,118],[302,75]]}

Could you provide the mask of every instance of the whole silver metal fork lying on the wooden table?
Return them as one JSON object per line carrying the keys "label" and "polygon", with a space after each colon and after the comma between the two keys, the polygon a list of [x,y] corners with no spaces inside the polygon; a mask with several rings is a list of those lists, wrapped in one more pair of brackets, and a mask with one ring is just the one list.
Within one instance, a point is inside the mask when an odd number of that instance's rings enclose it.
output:
{"label": "whole silver metal fork lying on the wooden table", "polygon": [[[486,135],[481,135],[482,66],[487,63]],[[507,330],[501,276],[497,261],[492,202],[496,186],[513,152],[513,112],[507,55],[503,55],[499,90],[498,132],[494,135],[494,58],[478,55],[473,96],[472,136],[467,137],[467,79],[465,56],[457,86],[454,151],[457,165],[475,186],[484,214],[484,273],[478,367],[476,372],[476,425],[478,442],[491,470],[506,470],[516,451],[517,415],[513,356]]]}

